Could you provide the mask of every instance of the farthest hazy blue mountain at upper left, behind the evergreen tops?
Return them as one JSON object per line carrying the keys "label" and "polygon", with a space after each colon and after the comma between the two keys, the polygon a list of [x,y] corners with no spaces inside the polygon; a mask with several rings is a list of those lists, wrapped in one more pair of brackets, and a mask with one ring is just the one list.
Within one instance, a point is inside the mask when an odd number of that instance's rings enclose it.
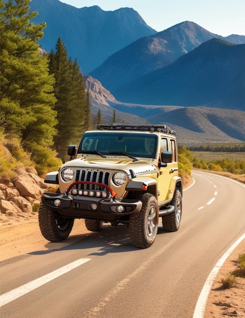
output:
{"label": "farthest hazy blue mountain at upper left, behind the evergreen tops", "polygon": [[157,33],[131,8],[103,11],[98,6],[81,9],[58,0],[32,0],[30,11],[38,11],[35,24],[47,23],[42,48],[55,48],[58,38],[64,42],[68,55],[83,73],[89,73],[111,54],[136,41]]}

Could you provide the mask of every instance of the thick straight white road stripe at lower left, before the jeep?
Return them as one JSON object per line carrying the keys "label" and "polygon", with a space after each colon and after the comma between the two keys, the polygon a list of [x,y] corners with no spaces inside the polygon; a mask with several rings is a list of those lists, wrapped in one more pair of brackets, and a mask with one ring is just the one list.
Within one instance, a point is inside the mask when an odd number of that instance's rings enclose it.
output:
{"label": "thick straight white road stripe at lower left, before the jeep", "polygon": [[79,259],[75,262],[72,262],[68,265],[65,265],[63,267],[58,268],[57,270],[44,275],[40,278],[37,278],[35,280],[32,280],[8,293],[5,293],[3,295],[0,296],[0,307],[2,307],[3,305],[8,304],[9,302],[19,298],[20,296],[23,296],[24,294],[27,294],[33,290],[35,290],[36,288],[46,284],[47,282],[53,280],[54,278],[57,278],[69,271],[71,271],[72,269],[86,263],[90,261],[90,259]]}

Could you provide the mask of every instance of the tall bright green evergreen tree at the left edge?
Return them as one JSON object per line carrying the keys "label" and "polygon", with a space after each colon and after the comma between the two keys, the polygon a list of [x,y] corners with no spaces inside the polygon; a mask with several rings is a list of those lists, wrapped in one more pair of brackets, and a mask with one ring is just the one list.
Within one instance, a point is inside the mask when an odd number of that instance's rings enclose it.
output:
{"label": "tall bright green evergreen tree at the left edge", "polygon": [[24,149],[39,161],[39,148],[48,149],[55,134],[54,79],[47,56],[40,56],[36,44],[45,23],[30,22],[37,13],[30,13],[28,5],[29,0],[0,0],[0,118],[4,134],[20,138]]}

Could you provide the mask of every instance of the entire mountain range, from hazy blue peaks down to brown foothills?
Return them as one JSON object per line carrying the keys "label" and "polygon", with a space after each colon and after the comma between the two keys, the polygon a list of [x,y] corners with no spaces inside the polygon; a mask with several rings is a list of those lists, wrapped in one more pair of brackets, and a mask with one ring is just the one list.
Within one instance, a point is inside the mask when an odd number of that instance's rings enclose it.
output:
{"label": "entire mountain range, from hazy blue peaks down to brown foothills", "polygon": [[[81,9],[32,0],[48,52],[62,38],[104,122],[167,123],[183,144],[245,140],[245,36],[222,37],[191,21],[160,33],[130,8]],[[89,74],[89,75],[85,75]]]}

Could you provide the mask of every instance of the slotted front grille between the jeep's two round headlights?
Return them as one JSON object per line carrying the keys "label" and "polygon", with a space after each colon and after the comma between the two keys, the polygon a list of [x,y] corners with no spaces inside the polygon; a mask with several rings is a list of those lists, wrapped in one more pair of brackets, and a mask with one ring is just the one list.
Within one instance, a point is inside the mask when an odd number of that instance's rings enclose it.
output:
{"label": "slotted front grille between the jeep's two round headlights", "polygon": [[[103,172],[99,170],[87,169],[87,170],[77,170],[76,171],[76,181],[88,181],[88,182],[97,182],[109,185],[109,172]],[[87,186],[89,188],[91,185],[86,184],[78,184],[77,188],[81,188],[81,186],[86,189]],[[96,185],[95,185],[96,187]]]}

